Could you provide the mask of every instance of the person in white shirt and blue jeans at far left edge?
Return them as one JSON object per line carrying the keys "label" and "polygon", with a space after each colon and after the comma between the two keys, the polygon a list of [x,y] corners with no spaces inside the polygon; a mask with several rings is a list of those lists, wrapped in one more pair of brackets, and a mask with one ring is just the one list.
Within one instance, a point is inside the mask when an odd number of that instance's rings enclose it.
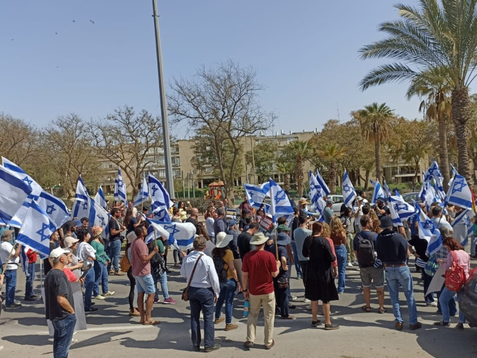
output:
{"label": "person in white shirt and blue jeans at far left edge", "polygon": [[[0,243],[0,261],[5,275],[5,308],[17,309],[21,307],[20,303],[15,303],[15,290],[17,289],[17,269],[20,262],[21,245],[17,249],[10,243],[13,239],[13,230],[4,229],[1,233]],[[10,256],[11,254],[11,256]],[[10,259],[8,260],[8,257]],[[8,260],[8,262],[7,262]]]}

